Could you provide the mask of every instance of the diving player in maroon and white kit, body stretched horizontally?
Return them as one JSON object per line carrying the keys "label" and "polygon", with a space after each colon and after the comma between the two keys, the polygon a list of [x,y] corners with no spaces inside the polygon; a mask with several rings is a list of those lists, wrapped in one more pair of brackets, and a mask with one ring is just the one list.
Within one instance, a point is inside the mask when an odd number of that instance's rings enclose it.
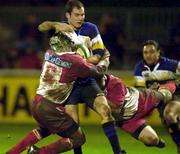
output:
{"label": "diving player in maroon and white kit, body stretched horizontally", "polygon": [[136,88],[126,87],[119,78],[112,75],[106,75],[104,80],[106,98],[117,125],[147,146],[164,147],[163,140],[146,124],[144,118],[158,105],[172,99],[176,84],[174,82],[163,84],[157,91],[152,89],[138,91]]}

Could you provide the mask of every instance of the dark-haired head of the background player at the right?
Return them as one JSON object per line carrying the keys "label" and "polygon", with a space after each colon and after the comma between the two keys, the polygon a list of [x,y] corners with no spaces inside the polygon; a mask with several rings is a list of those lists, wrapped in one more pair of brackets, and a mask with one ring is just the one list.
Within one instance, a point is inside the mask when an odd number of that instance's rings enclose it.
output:
{"label": "dark-haired head of the background player at the right", "polygon": [[147,65],[155,65],[160,58],[160,47],[158,42],[147,40],[143,44],[143,58]]}

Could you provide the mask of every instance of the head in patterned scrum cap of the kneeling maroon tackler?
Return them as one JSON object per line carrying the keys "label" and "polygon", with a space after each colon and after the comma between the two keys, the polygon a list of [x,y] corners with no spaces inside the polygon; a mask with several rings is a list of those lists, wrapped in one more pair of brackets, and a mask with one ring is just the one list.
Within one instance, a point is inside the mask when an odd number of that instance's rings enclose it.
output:
{"label": "head in patterned scrum cap of the kneeling maroon tackler", "polygon": [[53,35],[50,38],[50,47],[52,50],[54,50],[57,53],[60,52],[71,52],[74,51],[76,48],[76,44],[78,44],[77,39],[74,38],[75,33],[65,33],[65,32],[59,32]]}

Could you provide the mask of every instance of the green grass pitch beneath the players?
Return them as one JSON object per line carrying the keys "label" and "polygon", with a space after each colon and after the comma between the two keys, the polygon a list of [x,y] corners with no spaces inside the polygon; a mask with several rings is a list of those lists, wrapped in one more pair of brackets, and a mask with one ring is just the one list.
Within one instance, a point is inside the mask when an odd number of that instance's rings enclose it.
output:
{"label": "green grass pitch beneath the players", "polygon": [[[35,125],[30,124],[0,124],[0,154],[5,154],[5,151],[12,147],[12,145],[33,128],[35,128]],[[83,146],[84,154],[112,153],[110,145],[99,125],[83,125],[82,129],[86,134],[87,140]],[[119,140],[122,147],[126,149],[127,154],[176,154],[176,147],[167,132],[162,127],[155,127],[155,130],[167,143],[167,146],[163,149],[146,147],[144,144],[122,131],[118,131]],[[37,145],[42,146],[48,144],[57,138],[57,136],[51,136],[42,140]],[[26,152],[24,152],[24,154],[25,153]],[[73,152],[70,151],[65,154],[73,154]]]}

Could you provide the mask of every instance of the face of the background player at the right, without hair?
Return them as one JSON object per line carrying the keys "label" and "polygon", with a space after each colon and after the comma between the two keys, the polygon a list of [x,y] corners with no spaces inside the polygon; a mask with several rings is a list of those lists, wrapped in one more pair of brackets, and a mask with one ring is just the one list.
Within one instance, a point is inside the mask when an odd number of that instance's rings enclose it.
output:
{"label": "face of the background player at the right, without hair", "polygon": [[154,45],[145,45],[143,47],[143,58],[147,65],[155,65],[158,63],[160,51]]}

